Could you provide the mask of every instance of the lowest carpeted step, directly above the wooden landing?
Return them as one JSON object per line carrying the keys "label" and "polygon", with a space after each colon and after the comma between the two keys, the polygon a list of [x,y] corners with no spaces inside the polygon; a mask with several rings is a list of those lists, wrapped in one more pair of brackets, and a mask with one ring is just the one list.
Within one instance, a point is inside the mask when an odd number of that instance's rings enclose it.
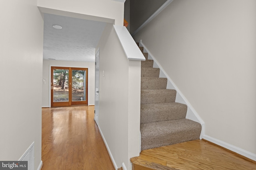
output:
{"label": "lowest carpeted step, directly above the wooden landing", "polygon": [[141,123],[141,150],[200,138],[201,125],[189,119]]}

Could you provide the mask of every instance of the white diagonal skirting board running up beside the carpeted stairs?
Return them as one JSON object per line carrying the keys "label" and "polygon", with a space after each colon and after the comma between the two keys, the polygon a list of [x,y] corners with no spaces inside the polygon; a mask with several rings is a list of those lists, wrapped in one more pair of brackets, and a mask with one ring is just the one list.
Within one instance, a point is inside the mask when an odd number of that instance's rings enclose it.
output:
{"label": "white diagonal skirting board running up beside the carpeted stairs", "polygon": [[[190,117],[194,117],[194,119],[191,119],[193,121],[196,121],[198,123],[201,124],[202,126],[202,131],[200,134],[200,139],[202,139],[202,137],[204,136],[204,132],[205,132],[205,126],[204,126],[204,121],[201,119],[201,117],[198,115],[198,113],[196,112],[196,110],[192,107],[192,105],[188,102],[188,100],[185,98],[185,96],[182,94],[182,92],[178,89],[178,87],[176,86],[176,84],[174,84],[174,82],[172,81],[172,79],[170,78],[170,76],[168,76],[168,74],[164,71],[164,68],[161,66],[161,64],[158,63],[158,61],[156,60],[156,58],[152,55],[152,53],[150,53],[150,51],[147,49],[147,47],[142,43],[142,40],[140,40],[140,44],[144,47],[144,50],[148,53],[148,57],[151,57],[154,60],[154,63],[160,68],[160,70],[162,71],[162,73],[165,75],[165,77],[168,79],[168,81],[172,84],[172,87],[176,90],[177,95],[176,96],[180,96],[182,98],[182,100],[184,101],[184,104],[186,104],[188,106],[188,110],[190,112],[187,112],[187,116],[188,113],[190,114]],[[161,72],[160,71],[160,72]],[[187,118],[187,117],[186,117]]]}

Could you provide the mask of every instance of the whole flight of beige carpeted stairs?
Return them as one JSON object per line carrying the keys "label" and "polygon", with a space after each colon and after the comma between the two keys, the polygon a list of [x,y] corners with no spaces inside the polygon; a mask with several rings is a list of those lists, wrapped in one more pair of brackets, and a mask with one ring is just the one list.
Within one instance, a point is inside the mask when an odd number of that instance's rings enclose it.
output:
{"label": "whole flight of beige carpeted stairs", "polygon": [[[138,43],[137,43],[138,44]],[[139,47],[143,53],[143,47]],[[141,61],[140,131],[141,150],[199,139],[201,125],[186,119],[187,106],[176,103],[176,90],[166,89],[167,78],[143,53]]]}

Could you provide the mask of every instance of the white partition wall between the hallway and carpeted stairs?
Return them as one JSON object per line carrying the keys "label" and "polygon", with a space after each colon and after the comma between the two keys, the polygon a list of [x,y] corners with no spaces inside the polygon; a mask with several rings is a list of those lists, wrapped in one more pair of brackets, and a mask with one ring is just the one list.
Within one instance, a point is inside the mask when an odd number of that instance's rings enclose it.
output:
{"label": "white partition wall between the hallway and carpeted stairs", "polygon": [[99,127],[117,167],[124,162],[131,170],[129,159],[138,156],[140,148],[140,61],[126,58],[111,24],[106,25],[98,47]]}

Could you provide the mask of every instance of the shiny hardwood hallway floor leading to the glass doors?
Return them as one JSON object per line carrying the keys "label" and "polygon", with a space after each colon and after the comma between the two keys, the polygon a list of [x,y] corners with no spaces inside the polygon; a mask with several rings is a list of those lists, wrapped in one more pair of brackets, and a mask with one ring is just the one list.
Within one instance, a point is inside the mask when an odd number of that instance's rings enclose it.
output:
{"label": "shiny hardwood hallway floor leading to the glass doors", "polygon": [[42,170],[114,170],[94,106],[42,108]]}

